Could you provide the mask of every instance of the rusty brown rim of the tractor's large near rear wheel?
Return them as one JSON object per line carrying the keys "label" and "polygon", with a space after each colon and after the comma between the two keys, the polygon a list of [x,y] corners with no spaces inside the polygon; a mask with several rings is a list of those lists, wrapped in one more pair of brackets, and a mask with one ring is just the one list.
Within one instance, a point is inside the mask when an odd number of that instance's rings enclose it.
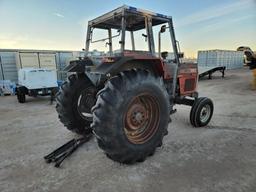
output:
{"label": "rusty brown rim of the tractor's large near rear wheel", "polygon": [[131,143],[143,144],[156,133],[159,120],[159,104],[149,94],[136,96],[128,105],[124,118],[124,131]]}

